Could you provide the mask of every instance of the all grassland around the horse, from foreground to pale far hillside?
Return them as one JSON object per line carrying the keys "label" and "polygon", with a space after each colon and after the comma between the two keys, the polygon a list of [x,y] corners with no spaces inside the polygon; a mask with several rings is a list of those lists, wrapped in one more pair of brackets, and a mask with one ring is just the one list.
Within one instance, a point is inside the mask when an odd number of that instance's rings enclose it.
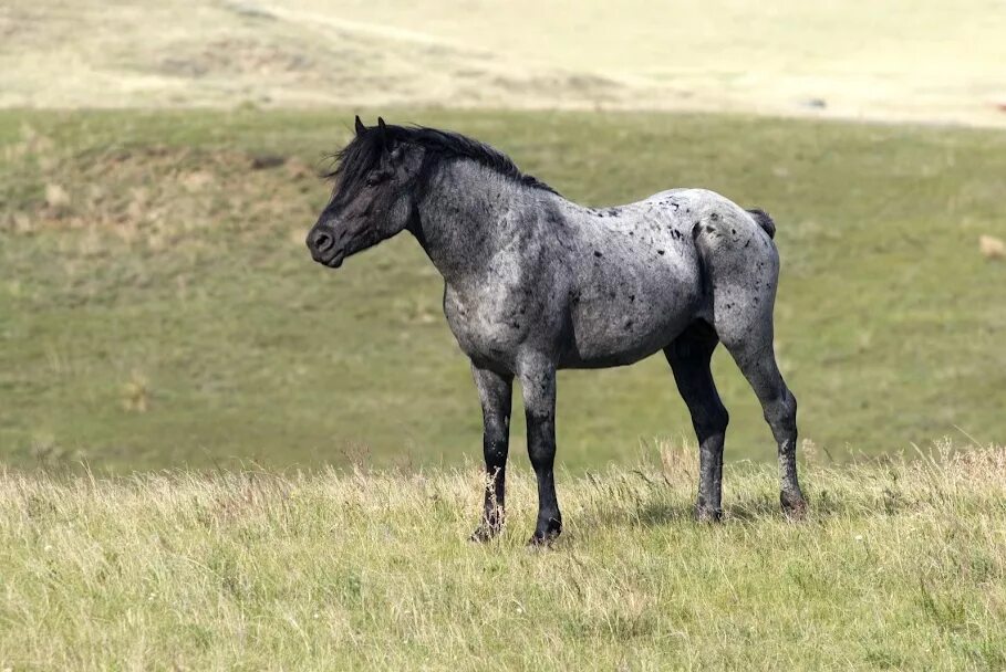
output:
{"label": "all grassland around the horse, from foreground to pale far hillside", "polygon": [[[1003,34],[1002,0],[0,3],[0,672],[1006,670]],[[439,276],[304,246],[354,113],[585,204],[771,212],[807,518],[719,351],[692,519],[657,356],[560,374],[550,549],[517,403],[468,543]]]}

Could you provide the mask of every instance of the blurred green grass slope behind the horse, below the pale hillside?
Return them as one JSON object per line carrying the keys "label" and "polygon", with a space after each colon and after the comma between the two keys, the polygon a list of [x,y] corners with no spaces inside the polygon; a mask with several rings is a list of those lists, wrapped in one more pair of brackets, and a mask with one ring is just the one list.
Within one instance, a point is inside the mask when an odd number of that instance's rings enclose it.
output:
{"label": "blurred green grass slope behind the horse, below the pale hillside", "polygon": [[[738,116],[382,111],[592,204],[716,189],[778,222],[777,350],[837,460],[1006,439],[1006,133]],[[367,115],[370,118],[372,115]],[[0,459],[96,472],[478,459],[467,363],[407,235],[332,273],[303,235],[346,112],[0,113]],[[252,170],[253,157],[288,158]],[[48,195],[46,195],[48,193]],[[64,196],[65,195],[65,196]],[[727,459],[771,437],[729,358]],[[564,372],[559,460],[691,434],[666,365]],[[512,454],[522,461],[522,421]]]}

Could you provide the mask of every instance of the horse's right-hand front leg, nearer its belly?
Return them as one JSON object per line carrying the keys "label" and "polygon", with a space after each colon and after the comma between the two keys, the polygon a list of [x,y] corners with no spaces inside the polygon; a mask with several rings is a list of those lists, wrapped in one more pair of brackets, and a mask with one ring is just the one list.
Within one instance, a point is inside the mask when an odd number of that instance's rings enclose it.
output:
{"label": "horse's right-hand front leg, nearer its belly", "polygon": [[562,532],[552,471],[556,462],[556,365],[543,359],[526,363],[521,366],[520,387],[528,426],[528,454],[538,479],[538,523],[528,543],[548,545]]}

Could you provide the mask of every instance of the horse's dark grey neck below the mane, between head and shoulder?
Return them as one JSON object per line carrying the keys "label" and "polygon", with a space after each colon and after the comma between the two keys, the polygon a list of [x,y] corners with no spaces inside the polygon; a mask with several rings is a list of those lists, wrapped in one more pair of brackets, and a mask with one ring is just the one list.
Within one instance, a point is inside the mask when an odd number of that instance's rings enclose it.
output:
{"label": "horse's dark grey neck below the mane, between head and shoulder", "polygon": [[431,178],[414,231],[449,285],[479,282],[492,255],[529,225],[527,188],[474,162],[455,162]]}

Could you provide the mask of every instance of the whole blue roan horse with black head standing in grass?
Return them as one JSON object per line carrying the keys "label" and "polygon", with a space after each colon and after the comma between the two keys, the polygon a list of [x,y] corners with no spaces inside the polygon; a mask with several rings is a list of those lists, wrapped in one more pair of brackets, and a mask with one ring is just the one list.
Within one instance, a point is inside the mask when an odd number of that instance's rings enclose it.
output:
{"label": "whole blue roan horse with black head standing in grass", "polygon": [[803,513],[797,400],[772,351],[779,256],[767,214],[704,189],[584,208],[483,143],[383,119],[367,128],[356,117],[356,136],[336,158],[332,199],[308,234],[314,260],[338,269],[408,230],[444,276],[444,313],[471,360],[485,423],[485,512],[474,539],[504,522],[514,378],[538,477],[531,543],[542,544],[562,527],[556,371],[622,366],[658,350],[698,437],[696,515],[718,518],[728,416],[709,359],[720,342],[778,442],[782,510]]}

